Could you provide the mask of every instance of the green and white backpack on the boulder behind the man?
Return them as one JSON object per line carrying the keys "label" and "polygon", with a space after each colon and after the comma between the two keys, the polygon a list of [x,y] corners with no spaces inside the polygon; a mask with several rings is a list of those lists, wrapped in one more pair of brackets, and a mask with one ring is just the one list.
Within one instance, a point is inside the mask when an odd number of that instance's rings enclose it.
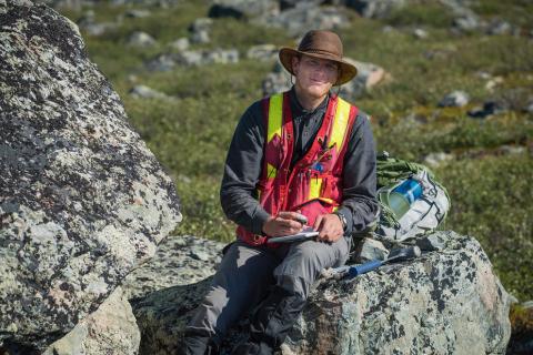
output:
{"label": "green and white backpack on the boulder behind the man", "polygon": [[[388,242],[403,242],[434,231],[446,217],[451,201],[446,189],[439,183],[431,170],[422,164],[391,158],[388,152],[378,154],[378,200],[380,215],[372,237]],[[406,179],[414,179],[422,186],[422,194],[396,219],[388,205],[391,192]]]}

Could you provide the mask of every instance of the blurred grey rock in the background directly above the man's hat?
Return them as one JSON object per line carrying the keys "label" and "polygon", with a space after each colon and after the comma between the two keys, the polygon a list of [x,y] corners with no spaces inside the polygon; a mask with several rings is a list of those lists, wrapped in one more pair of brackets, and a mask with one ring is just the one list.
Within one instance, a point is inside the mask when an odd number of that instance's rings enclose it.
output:
{"label": "blurred grey rock in the background directly above the man's hat", "polygon": [[286,30],[290,36],[303,36],[309,29],[339,30],[349,23],[342,8],[314,7],[306,2],[279,14],[263,16],[258,22]]}

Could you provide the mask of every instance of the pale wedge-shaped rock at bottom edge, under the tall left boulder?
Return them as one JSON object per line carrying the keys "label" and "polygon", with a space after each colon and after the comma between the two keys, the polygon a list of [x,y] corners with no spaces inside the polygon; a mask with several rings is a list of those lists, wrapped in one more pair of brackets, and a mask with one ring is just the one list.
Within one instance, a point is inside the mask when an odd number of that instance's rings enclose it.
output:
{"label": "pale wedge-shaped rock at bottom edge, under the tall left boulder", "polygon": [[51,344],[43,355],[92,355],[139,352],[141,333],[122,288],[117,287],[97,311]]}

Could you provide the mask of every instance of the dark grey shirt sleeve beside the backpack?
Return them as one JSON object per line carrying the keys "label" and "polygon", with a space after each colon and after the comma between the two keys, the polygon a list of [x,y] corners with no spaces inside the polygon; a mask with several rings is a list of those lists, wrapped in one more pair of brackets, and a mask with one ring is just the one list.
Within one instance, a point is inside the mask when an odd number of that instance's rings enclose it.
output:
{"label": "dark grey shirt sleeve beside the backpack", "polygon": [[359,112],[344,156],[343,201],[339,212],[346,217],[345,234],[363,231],[379,211],[376,200],[375,145],[370,121]]}

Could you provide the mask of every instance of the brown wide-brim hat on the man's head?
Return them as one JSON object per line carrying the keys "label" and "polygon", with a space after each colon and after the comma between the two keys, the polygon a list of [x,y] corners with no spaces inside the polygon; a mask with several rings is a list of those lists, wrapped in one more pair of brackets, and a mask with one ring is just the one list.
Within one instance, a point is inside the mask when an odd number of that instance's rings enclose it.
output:
{"label": "brown wide-brim hat on the man's head", "polygon": [[304,54],[334,61],[339,63],[340,68],[339,78],[334,84],[342,85],[358,74],[358,69],[353,64],[344,61],[342,59],[342,42],[336,33],[316,30],[305,33],[298,49],[284,47],[280,49],[279,55],[283,67],[293,75],[292,59],[294,57],[301,57]]}

